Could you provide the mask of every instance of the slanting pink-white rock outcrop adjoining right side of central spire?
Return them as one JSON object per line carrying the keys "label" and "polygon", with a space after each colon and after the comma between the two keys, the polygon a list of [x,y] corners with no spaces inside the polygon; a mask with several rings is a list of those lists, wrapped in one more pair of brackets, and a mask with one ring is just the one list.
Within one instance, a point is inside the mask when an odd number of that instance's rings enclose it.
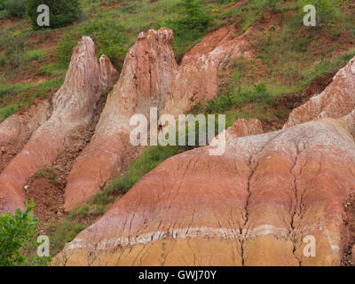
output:
{"label": "slanting pink-white rock outcrop adjoining right side of central spire", "polygon": [[216,98],[221,67],[231,59],[252,57],[246,34],[234,37],[234,33],[234,28],[219,28],[185,54],[170,86],[164,114],[183,114],[198,102]]}

